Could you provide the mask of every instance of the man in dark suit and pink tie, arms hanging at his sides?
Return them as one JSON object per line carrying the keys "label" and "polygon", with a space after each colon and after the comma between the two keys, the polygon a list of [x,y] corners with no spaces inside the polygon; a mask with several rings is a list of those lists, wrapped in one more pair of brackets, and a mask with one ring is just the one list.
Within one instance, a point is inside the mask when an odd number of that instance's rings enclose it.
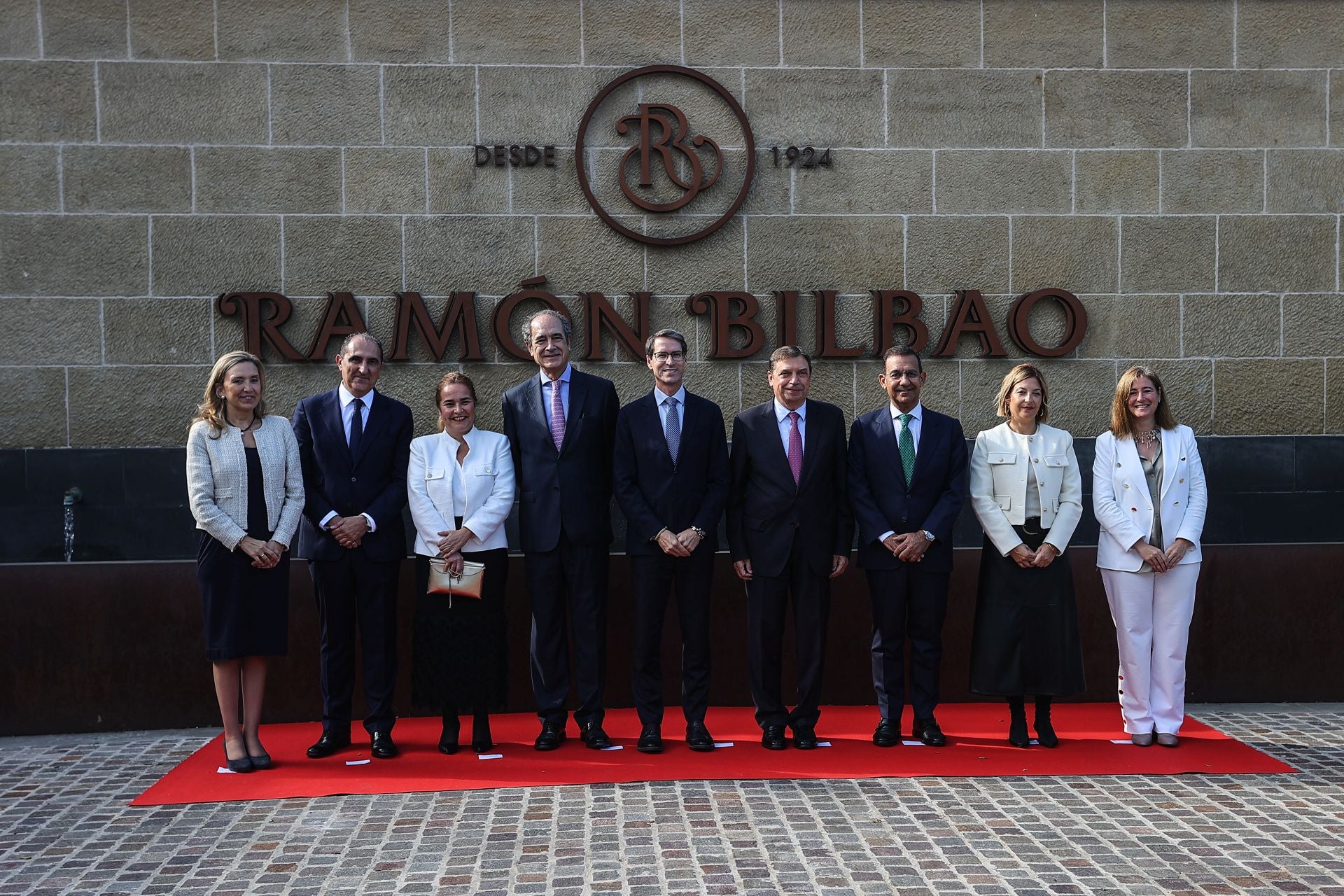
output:
{"label": "man in dark suit and pink tie, arms hanging at his sides", "polygon": [[[844,414],[808,399],[812,359],[797,345],[770,355],[774,398],[732,423],[728,548],[747,590],[747,668],[761,746],[817,746],[831,579],[845,571],[853,521],[845,500]],[[798,700],[780,690],[784,617],[793,596]]]}

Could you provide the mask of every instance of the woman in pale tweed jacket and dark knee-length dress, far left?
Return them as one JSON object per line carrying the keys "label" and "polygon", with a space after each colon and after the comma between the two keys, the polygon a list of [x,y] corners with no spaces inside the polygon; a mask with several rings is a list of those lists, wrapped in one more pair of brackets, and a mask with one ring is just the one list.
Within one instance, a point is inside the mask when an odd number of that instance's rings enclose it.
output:
{"label": "woman in pale tweed jacket and dark knee-length dress, far left", "polygon": [[206,657],[214,665],[231,771],[270,767],[258,737],[266,657],[289,649],[284,553],[304,512],[298,442],[289,420],[266,414],[265,384],[255,355],[228,352],[211,368],[187,434]]}

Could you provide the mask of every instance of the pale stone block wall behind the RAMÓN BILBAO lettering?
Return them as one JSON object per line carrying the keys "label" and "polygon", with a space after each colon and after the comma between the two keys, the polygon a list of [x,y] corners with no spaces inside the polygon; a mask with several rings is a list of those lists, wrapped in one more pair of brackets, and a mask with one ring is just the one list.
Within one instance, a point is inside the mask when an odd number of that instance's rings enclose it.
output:
{"label": "pale stone block wall behind the RAM\u00d3N BILBAO lettering", "polygon": [[[706,71],[755,133],[742,212],[685,247],[617,235],[574,172],[590,98],[649,63]],[[493,142],[556,144],[560,164],[473,167]],[[835,167],[775,168],[770,146],[790,144],[831,146]],[[741,164],[741,141],[724,152]],[[1043,363],[1054,420],[1079,435],[1102,429],[1133,360],[1202,434],[1337,434],[1341,212],[1333,3],[9,0],[0,447],[179,445],[208,364],[241,347],[214,310],[228,290],[289,296],[301,348],[328,290],[355,293],[388,339],[395,292],[434,313],[477,292],[492,359],[465,367],[497,426],[493,396],[530,371],[493,352],[488,309],[538,274],[575,310],[579,290],[618,309],[652,290],[653,325],[692,337],[691,388],[730,420],[767,396],[766,352],[708,360],[691,293],[753,292],[773,336],[771,290],[835,289],[837,339],[857,345],[868,290],[919,293],[935,341],[952,292],[978,289],[1016,357],[1011,300],[1056,286],[1091,318]],[[806,294],[798,312],[809,347]],[[414,341],[384,373],[422,431],[457,351],[438,361]],[[1013,361],[976,352],[966,339],[927,364],[927,403],[969,434],[995,422]],[[609,357],[587,368],[622,399],[648,388],[641,359],[614,341]],[[821,361],[816,395],[862,412],[884,400],[876,372]],[[327,364],[269,373],[280,412],[336,382]]]}

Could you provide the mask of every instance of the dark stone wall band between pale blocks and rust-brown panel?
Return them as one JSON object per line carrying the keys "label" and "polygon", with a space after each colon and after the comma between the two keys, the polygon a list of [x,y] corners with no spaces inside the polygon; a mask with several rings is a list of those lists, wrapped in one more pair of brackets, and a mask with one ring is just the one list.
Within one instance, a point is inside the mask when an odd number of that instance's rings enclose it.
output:
{"label": "dark stone wall band between pale blocks and rust-brown panel", "polygon": [[[1095,545],[1089,473],[1094,439],[1074,445],[1085,500],[1073,544]],[[1344,543],[1344,514],[1337,510],[1344,502],[1344,435],[1206,435],[1199,450],[1210,489],[1204,543]],[[60,501],[70,486],[83,492],[74,506],[74,560],[194,559],[196,532],[184,466],[183,449],[0,450],[0,510],[22,520],[0,527],[0,576],[5,563],[63,559]],[[613,520],[612,545],[621,551],[625,521],[614,504]],[[509,543],[516,544],[516,519],[508,525]],[[980,525],[969,505],[956,543],[980,547]]]}

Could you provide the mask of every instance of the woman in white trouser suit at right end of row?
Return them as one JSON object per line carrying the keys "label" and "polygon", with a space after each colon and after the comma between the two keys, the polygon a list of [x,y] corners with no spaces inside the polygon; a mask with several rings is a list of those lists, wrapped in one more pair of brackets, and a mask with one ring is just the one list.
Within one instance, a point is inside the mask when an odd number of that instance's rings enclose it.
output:
{"label": "woman in white trouser suit at right end of row", "polygon": [[1207,506],[1193,430],[1176,424],[1157,373],[1129,368],[1116,384],[1110,430],[1097,437],[1093,510],[1120,643],[1120,711],[1140,747],[1154,736],[1179,743]]}

